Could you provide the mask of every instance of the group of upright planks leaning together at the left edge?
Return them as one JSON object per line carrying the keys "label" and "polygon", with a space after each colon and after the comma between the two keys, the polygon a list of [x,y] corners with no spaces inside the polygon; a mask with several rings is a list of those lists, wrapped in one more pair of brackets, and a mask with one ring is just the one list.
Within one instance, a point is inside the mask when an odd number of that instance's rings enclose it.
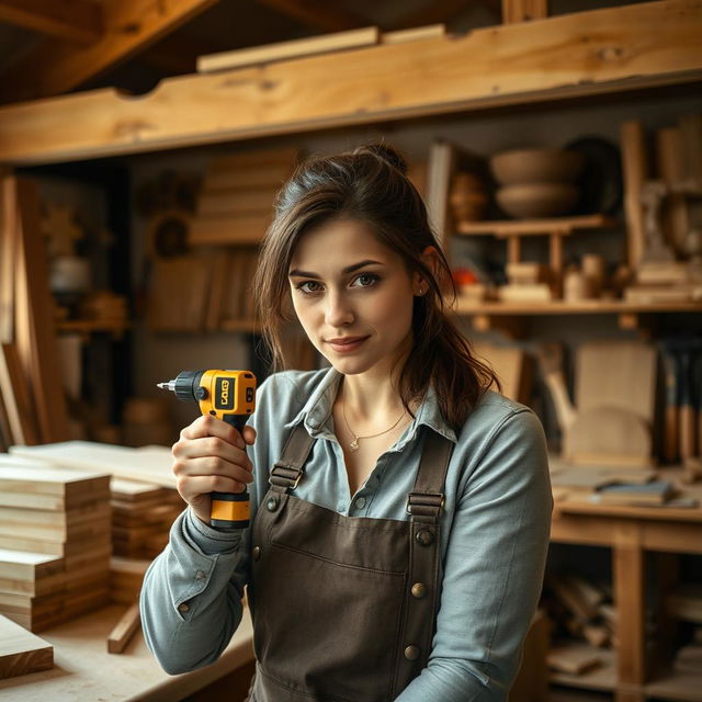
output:
{"label": "group of upright planks leaning together at the left edge", "polygon": [[0,178],[0,450],[68,438],[36,184]]}

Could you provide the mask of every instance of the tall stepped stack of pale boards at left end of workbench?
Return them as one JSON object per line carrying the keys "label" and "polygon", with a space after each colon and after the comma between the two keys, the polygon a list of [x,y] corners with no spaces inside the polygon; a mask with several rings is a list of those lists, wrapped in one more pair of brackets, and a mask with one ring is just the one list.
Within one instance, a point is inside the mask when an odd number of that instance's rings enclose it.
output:
{"label": "tall stepped stack of pale boards at left end of workbench", "polygon": [[110,475],[0,455],[0,613],[37,632],[110,600]]}

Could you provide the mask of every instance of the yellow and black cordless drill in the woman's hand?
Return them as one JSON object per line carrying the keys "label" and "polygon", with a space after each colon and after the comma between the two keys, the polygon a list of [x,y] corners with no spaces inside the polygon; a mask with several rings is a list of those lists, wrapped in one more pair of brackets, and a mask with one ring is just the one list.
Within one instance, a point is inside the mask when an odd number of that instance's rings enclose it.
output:
{"label": "yellow and black cordless drill in the woman's hand", "polygon": [[[212,415],[239,432],[256,409],[256,376],[250,371],[183,371],[158,387],[176,393],[178,399],[196,401],[203,415]],[[210,524],[215,529],[246,529],[249,525],[249,492],[211,492]]]}

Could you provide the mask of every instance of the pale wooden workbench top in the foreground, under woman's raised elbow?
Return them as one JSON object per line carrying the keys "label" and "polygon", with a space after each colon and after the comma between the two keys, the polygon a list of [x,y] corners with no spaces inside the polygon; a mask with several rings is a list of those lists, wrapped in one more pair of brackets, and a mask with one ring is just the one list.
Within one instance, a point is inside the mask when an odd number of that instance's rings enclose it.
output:
{"label": "pale wooden workbench top in the foreground, under woman's raised elbow", "polygon": [[109,607],[73,622],[39,632],[54,645],[54,668],[0,680],[1,702],[76,702],[139,700],[173,702],[201,690],[253,658],[248,609],[220,658],[180,676],[161,670],[144,642],[141,630],[123,654],[107,653],[107,635],[125,612]]}

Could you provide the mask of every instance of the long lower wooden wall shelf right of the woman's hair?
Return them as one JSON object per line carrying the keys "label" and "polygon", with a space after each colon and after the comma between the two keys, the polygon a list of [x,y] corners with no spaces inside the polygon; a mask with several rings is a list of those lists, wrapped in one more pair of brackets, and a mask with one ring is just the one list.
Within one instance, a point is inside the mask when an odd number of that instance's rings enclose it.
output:
{"label": "long lower wooden wall shelf right of the woman's hair", "polygon": [[584,299],[579,302],[548,301],[526,303],[474,302],[456,298],[458,315],[603,315],[641,313],[702,312],[700,303],[627,303],[621,299]]}

